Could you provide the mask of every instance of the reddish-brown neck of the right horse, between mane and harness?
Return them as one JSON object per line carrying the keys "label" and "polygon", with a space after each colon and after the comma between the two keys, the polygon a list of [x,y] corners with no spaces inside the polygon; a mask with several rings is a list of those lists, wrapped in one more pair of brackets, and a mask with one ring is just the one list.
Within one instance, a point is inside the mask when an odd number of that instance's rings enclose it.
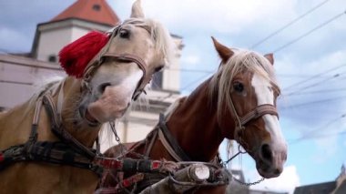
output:
{"label": "reddish-brown neck of the right horse, between mane and harness", "polygon": [[209,81],[183,100],[167,121],[168,129],[192,160],[215,158],[223,140],[217,119],[217,102],[209,99]]}

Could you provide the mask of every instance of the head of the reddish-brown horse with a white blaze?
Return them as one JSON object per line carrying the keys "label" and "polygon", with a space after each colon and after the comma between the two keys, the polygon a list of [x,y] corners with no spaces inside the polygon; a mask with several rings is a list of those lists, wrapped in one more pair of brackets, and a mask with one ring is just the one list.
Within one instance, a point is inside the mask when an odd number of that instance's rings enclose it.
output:
{"label": "head of the reddish-brown horse with a white blaze", "polygon": [[[213,38],[222,60],[211,86],[218,97],[219,128],[235,139],[255,159],[265,178],[278,177],[287,159],[287,145],[280,130],[276,101],[280,95],[271,54],[230,49]],[[230,130],[234,128],[235,130]]]}

